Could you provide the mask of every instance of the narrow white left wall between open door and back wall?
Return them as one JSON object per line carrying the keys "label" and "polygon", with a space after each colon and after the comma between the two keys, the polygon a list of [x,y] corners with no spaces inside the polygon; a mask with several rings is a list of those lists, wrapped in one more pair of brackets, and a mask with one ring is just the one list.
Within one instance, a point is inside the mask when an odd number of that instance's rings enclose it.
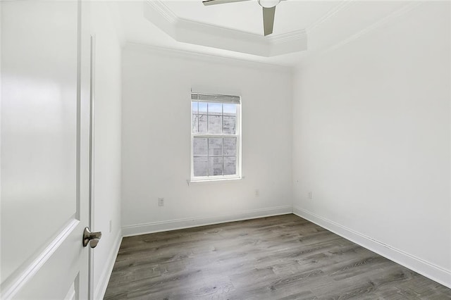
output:
{"label": "narrow white left wall between open door and back wall", "polygon": [[[121,44],[108,2],[92,1],[95,35],[94,299],[101,299],[121,242]],[[110,231],[110,220],[112,223]]]}

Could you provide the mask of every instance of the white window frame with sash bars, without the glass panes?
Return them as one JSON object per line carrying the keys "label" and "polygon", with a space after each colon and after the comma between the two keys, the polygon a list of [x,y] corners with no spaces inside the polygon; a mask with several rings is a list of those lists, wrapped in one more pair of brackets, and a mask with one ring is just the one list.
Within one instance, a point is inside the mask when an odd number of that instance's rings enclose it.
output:
{"label": "white window frame with sash bars, without the glass panes", "polygon": [[[200,95],[200,96],[199,96]],[[204,99],[200,99],[202,98]],[[197,98],[195,98],[197,97]],[[239,103],[232,103],[229,101],[221,101],[221,99],[227,98],[227,97],[239,97],[240,101]],[[192,132],[192,102],[209,102],[209,103],[221,103],[221,104],[237,104],[237,120],[236,120],[236,132],[235,135],[211,135],[208,133],[193,133]],[[242,115],[242,103],[241,103],[241,96],[235,96],[235,95],[221,95],[221,94],[207,94],[207,93],[201,93],[201,92],[191,92],[191,99],[190,99],[190,118],[191,118],[191,126],[190,126],[190,133],[191,133],[191,158],[190,158],[190,165],[191,165],[191,175],[190,175],[190,182],[206,182],[206,181],[218,181],[218,180],[240,180],[242,179],[242,122],[241,122],[241,115]],[[207,110],[208,114],[208,110]],[[208,119],[207,119],[208,122]],[[235,175],[208,175],[208,176],[194,176],[194,137],[206,137],[206,138],[224,138],[224,137],[236,137],[237,139],[237,153],[236,153],[236,174]],[[208,153],[208,149],[207,149]]]}

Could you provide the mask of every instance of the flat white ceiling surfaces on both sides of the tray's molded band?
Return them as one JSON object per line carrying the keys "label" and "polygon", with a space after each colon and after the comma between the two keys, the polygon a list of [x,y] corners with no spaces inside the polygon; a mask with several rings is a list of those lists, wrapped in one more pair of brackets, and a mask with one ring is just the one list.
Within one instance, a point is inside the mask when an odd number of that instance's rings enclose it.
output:
{"label": "flat white ceiling surfaces on both sides of the tray's molded band", "polygon": [[[180,19],[262,35],[261,6],[257,0],[215,6],[204,6],[201,0],[145,1],[160,1]],[[297,65],[307,57],[327,51],[362,32],[368,32],[372,27],[383,25],[402,11],[407,11],[409,6],[419,4],[411,1],[282,1],[276,7],[273,35],[306,30],[307,51],[262,57],[177,42],[144,18],[145,1],[112,3],[118,27],[121,27],[126,42],[288,66]]]}

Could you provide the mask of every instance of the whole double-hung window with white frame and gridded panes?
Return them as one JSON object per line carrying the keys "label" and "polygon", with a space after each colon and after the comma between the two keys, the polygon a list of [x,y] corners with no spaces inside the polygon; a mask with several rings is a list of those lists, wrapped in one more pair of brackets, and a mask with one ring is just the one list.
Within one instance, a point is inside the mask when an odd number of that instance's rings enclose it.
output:
{"label": "whole double-hung window with white frame and gridded panes", "polygon": [[240,96],[191,94],[191,180],[241,177]]}

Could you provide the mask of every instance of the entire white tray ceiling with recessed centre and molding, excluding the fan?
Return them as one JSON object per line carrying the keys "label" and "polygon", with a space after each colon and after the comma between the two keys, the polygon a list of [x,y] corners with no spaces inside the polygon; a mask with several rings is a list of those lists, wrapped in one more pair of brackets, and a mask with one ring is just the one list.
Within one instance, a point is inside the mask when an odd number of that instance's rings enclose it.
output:
{"label": "entire white tray ceiling with recessed centre and molding, excluding the fan", "polygon": [[257,0],[216,6],[111,1],[125,42],[288,66],[369,34],[416,6],[421,1],[285,0],[276,7],[273,35],[264,37]]}

